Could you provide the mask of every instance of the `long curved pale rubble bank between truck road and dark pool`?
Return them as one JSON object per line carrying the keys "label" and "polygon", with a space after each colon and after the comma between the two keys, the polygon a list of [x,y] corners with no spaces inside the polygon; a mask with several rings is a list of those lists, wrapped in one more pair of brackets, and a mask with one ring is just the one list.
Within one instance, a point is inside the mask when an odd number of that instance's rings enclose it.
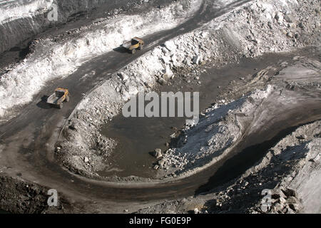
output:
{"label": "long curved pale rubble bank between truck road and dark pool", "polygon": [[[161,78],[170,80],[173,68],[193,68],[193,63],[203,61],[220,66],[244,56],[319,46],[320,22],[315,20],[318,9],[317,1],[253,1],[154,48],[78,105],[67,125],[73,127],[64,130],[67,141],[59,144],[58,159],[73,172],[97,177],[96,172],[103,166],[101,157],[108,157],[115,146],[99,129],[121,110],[128,98],[138,91],[151,90]],[[99,165],[84,162],[86,157],[93,157],[93,163]]]}

